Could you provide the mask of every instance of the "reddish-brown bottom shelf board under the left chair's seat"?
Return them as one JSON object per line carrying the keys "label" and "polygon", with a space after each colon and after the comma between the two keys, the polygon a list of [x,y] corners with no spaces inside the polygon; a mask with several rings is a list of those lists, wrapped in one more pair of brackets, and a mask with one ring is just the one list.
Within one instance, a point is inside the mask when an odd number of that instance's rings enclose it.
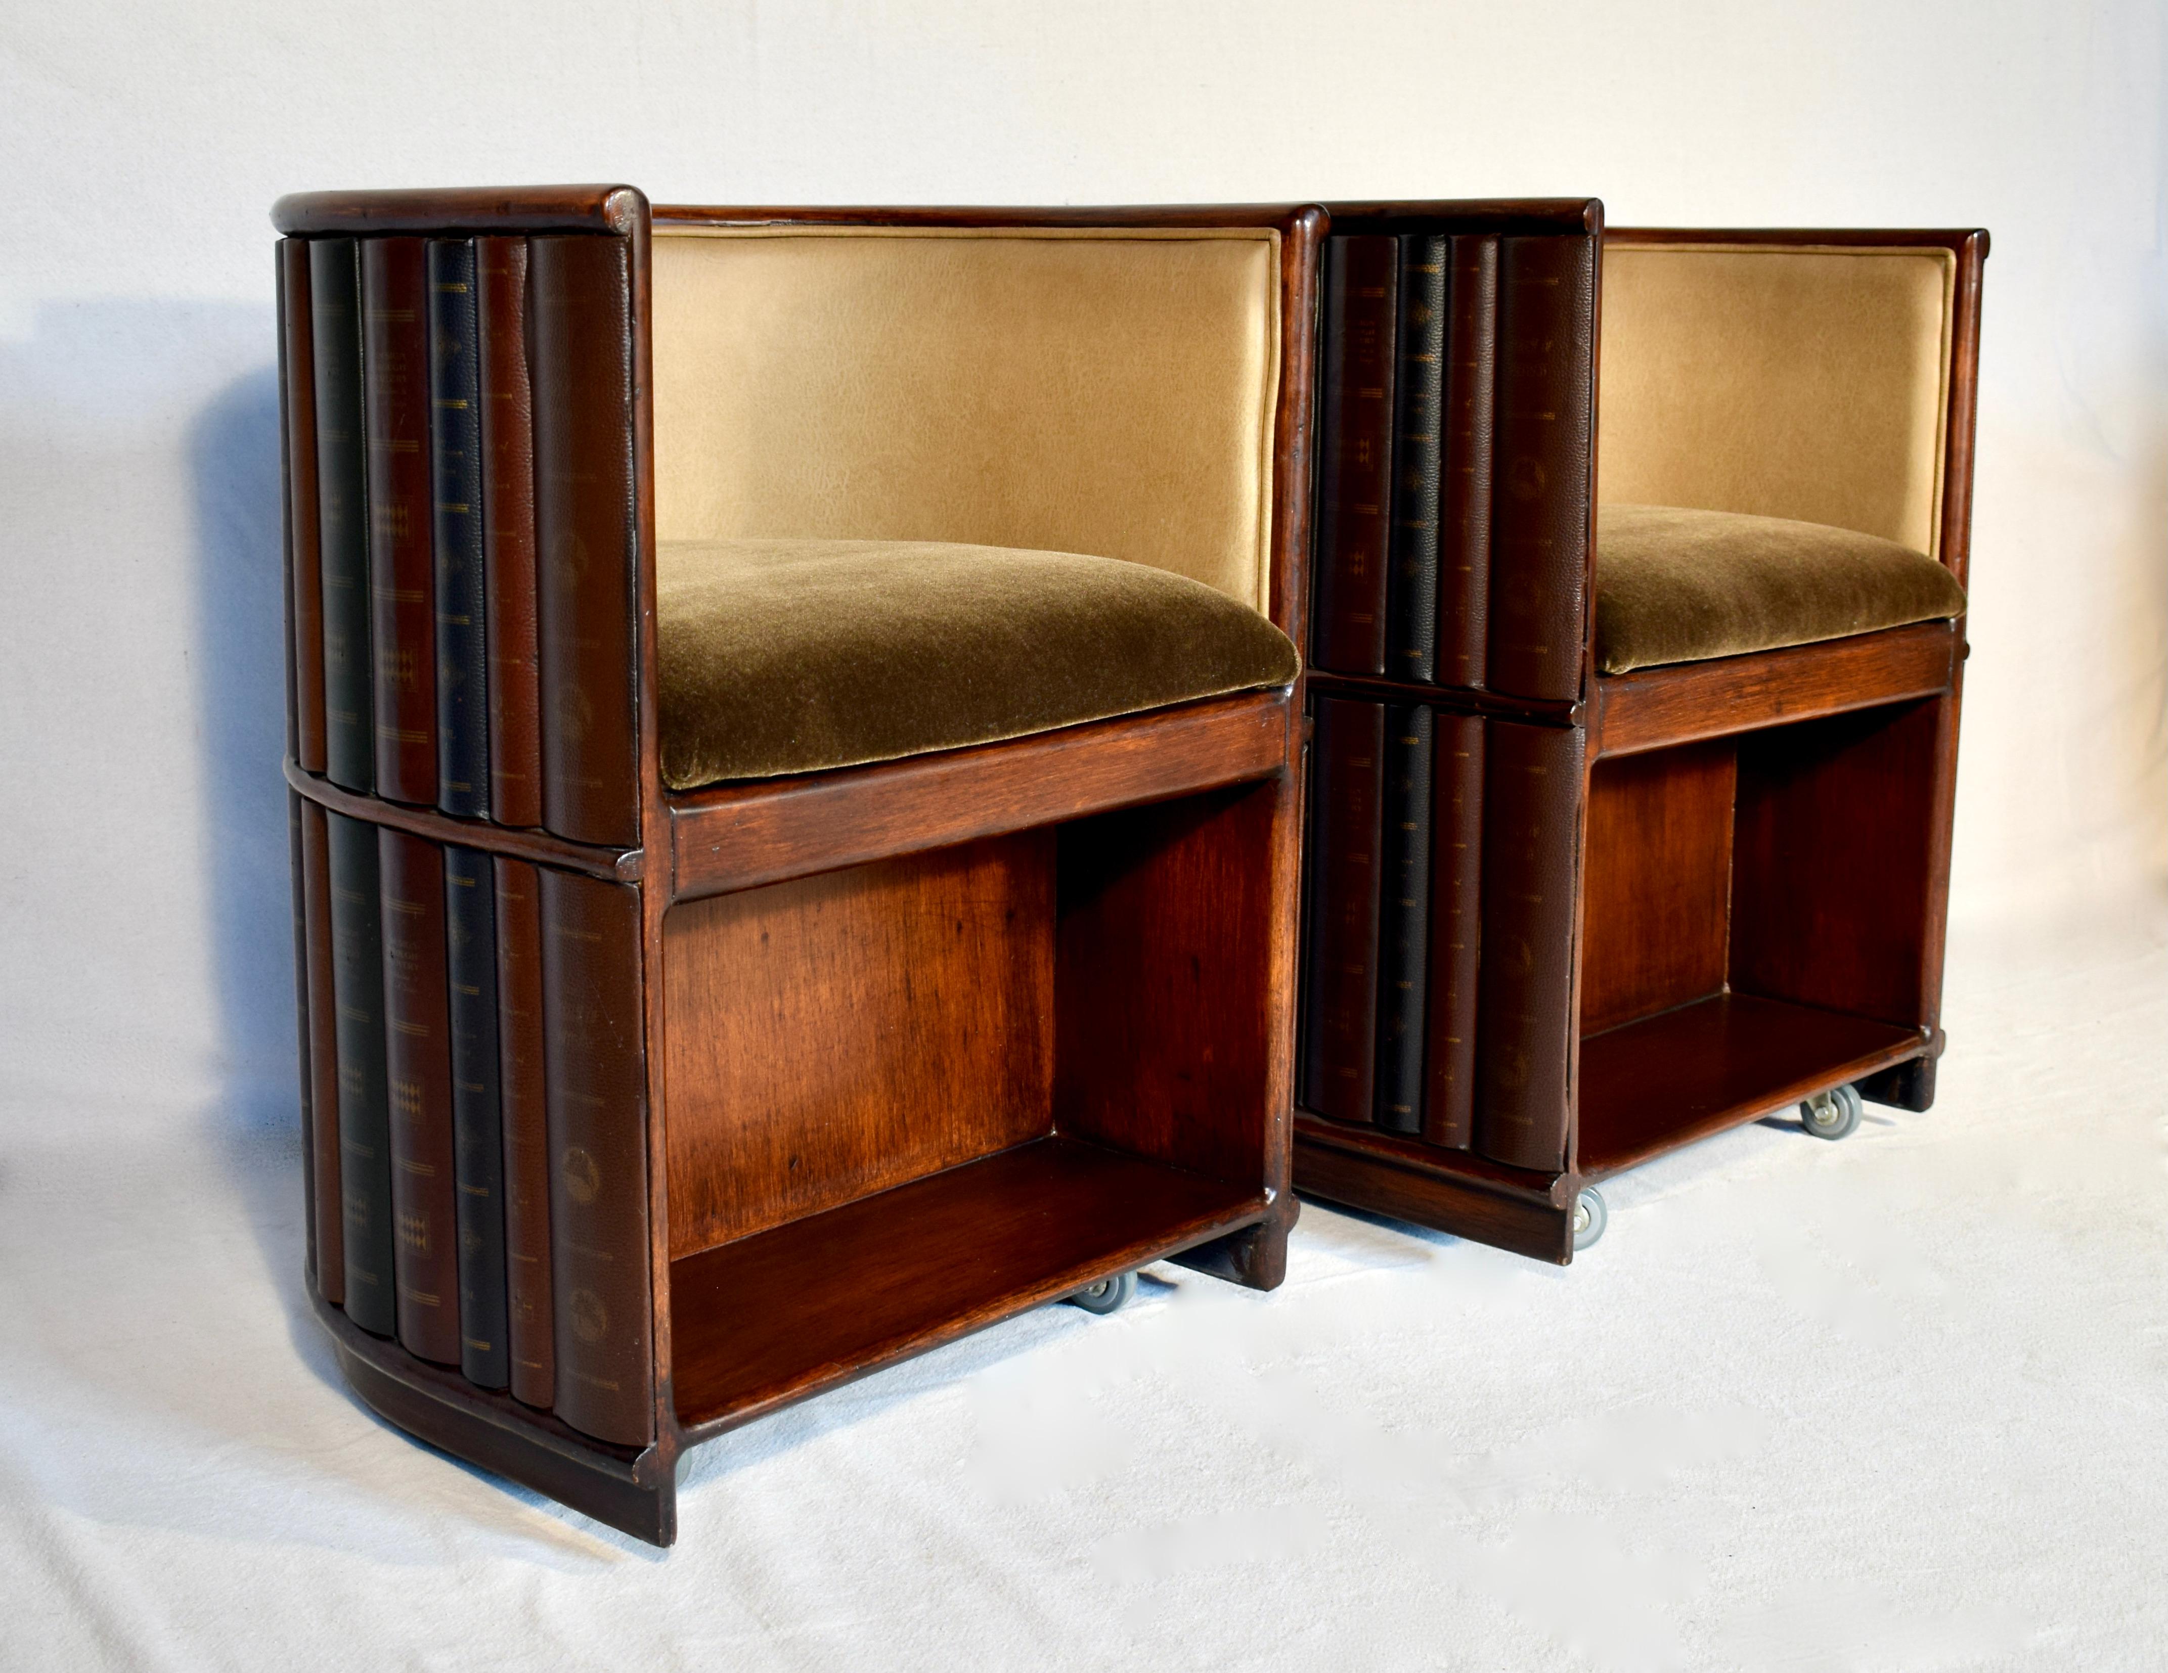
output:
{"label": "reddish-brown bottom shelf board under the left chair's seat", "polygon": [[689,1441],[1262,1220],[1255,1188],[1047,1136],[670,1263]]}

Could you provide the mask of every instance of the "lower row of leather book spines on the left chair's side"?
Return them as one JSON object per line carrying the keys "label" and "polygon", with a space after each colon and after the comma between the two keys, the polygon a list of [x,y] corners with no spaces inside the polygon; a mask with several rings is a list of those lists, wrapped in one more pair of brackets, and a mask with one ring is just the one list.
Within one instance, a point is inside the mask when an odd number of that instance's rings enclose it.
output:
{"label": "lower row of leather book spines on the left chair's side", "polygon": [[637,893],[293,797],[317,1287],[642,1441]]}

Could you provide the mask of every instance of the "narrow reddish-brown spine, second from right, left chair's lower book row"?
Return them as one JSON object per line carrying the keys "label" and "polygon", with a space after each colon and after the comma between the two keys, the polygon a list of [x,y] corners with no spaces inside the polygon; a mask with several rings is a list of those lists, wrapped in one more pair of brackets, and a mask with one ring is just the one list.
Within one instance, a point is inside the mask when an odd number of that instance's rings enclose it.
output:
{"label": "narrow reddish-brown spine, second from right, left chair's lower book row", "polygon": [[542,884],[496,856],[496,1086],[505,1118],[505,1296],[512,1396],[557,1398],[549,1253],[549,1097],[542,1079]]}

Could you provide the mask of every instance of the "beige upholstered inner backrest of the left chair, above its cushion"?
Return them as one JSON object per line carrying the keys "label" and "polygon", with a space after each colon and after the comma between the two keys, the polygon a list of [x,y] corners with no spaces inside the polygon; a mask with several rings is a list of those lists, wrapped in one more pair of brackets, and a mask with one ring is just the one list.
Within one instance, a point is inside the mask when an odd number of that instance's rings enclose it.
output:
{"label": "beige upholstered inner backrest of the left chair, above its cushion", "polygon": [[954,540],[1268,607],[1270,230],[655,232],[661,540]]}

